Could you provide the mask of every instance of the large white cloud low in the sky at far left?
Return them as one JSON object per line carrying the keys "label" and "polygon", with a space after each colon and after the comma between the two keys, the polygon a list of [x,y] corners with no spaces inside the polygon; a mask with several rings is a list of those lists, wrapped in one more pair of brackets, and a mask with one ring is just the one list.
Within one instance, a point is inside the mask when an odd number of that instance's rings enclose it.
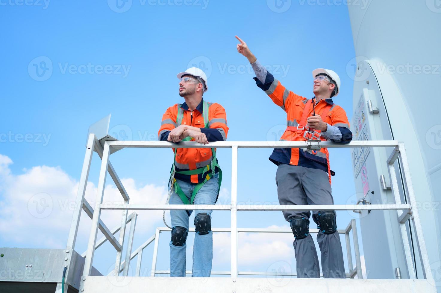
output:
{"label": "large white cloud low in the sky at far left", "polygon": [[[12,174],[12,160],[0,155],[0,233],[2,246],[64,248],[69,233],[78,182],[60,167],[37,166]],[[107,182],[112,182],[108,176]],[[164,204],[166,186],[147,184],[136,187],[131,178],[121,179],[130,203]],[[85,198],[94,206],[97,187],[88,182]],[[121,203],[116,186],[106,185],[104,202]],[[129,214],[131,211],[129,211]],[[137,211],[136,234],[163,226],[162,211]],[[102,211],[101,219],[112,229],[121,221],[121,211]],[[78,239],[89,238],[91,219],[82,211]],[[128,229],[128,228],[127,228]],[[101,237],[99,232],[98,237]],[[81,248],[79,248],[81,250]],[[80,253],[82,251],[79,251]]]}

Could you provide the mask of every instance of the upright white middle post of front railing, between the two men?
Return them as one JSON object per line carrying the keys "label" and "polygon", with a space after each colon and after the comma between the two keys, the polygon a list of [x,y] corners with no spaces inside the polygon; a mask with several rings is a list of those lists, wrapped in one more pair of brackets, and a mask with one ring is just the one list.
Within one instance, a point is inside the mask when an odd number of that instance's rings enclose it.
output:
{"label": "upright white middle post of front railing, between the two men", "polygon": [[237,278],[237,145],[232,146],[231,164],[231,277]]}

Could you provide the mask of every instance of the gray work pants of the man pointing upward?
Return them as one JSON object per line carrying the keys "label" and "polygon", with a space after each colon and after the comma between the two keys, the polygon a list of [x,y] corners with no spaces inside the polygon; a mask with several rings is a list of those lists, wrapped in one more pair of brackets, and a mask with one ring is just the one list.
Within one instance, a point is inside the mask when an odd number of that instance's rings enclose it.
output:
{"label": "gray work pants of the man pointing upward", "polygon": [[[280,164],[276,173],[277,195],[280,204],[334,204],[325,171]],[[312,219],[317,223],[320,211],[313,211]],[[308,220],[310,211],[283,211],[289,222],[292,217],[301,216]],[[346,278],[338,232],[317,235],[321,251],[321,269],[324,278]],[[303,239],[294,240],[297,278],[320,278],[317,251],[310,234]]]}

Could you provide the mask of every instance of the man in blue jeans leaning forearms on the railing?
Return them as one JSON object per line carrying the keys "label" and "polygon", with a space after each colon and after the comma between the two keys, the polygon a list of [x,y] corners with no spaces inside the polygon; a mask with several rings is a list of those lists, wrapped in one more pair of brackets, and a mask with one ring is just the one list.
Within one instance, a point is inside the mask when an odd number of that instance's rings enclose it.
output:
{"label": "man in blue jeans leaning forearms on the railing", "polygon": [[[183,104],[169,107],[162,116],[158,136],[161,141],[225,141],[227,116],[220,104],[202,99],[207,91],[207,76],[197,67],[178,74],[179,96]],[[214,148],[174,148],[170,176],[169,204],[215,204],[221,186],[222,172]],[[209,277],[213,260],[213,232],[210,210],[194,212],[193,277]],[[191,211],[171,210],[172,239],[170,276],[185,277],[185,250],[188,218]]]}

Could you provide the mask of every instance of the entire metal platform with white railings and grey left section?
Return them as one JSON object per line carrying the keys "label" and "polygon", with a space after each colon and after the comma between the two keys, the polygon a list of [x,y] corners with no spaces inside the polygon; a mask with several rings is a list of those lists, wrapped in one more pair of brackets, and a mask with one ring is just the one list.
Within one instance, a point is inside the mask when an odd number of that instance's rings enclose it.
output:
{"label": "entire metal platform with white railings and grey left section", "polygon": [[[108,139],[108,140],[107,140]],[[67,274],[65,284],[69,289],[79,290],[85,293],[97,292],[289,292],[299,289],[321,290],[324,292],[436,292],[433,277],[430,271],[430,264],[427,257],[426,245],[422,235],[421,223],[419,214],[413,207],[416,207],[415,194],[413,191],[409,167],[407,164],[407,156],[404,144],[398,141],[352,141],[349,144],[340,145],[333,144],[328,141],[315,141],[311,147],[317,148],[320,146],[327,148],[390,148],[393,151],[385,164],[389,168],[391,176],[391,189],[395,199],[395,203],[384,204],[370,204],[370,205],[316,205],[314,209],[318,210],[373,210],[373,211],[396,211],[396,221],[400,223],[401,227],[401,241],[404,248],[406,264],[400,270],[406,271],[409,279],[363,279],[362,266],[360,263],[360,253],[358,248],[358,235],[355,226],[355,220],[351,220],[346,229],[339,229],[340,234],[345,234],[346,246],[348,249],[348,279],[297,279],[295,274],[269,274],[268,272],[241,272],[238,271],[238,235],[241,232],[265,232],[265,233],[291,233],[290,230],[270,230],[263,228],[238,228],[237,226],[237,212],[238,211],[283,211],[283,210],[310,210],[310,205],[243,205],[237,204],[237,161],[238,148],[305,148],[303,141],[220,141],[210,143],[209,145],[200,145],[195,142],[181,142],[179,147],[182,148],[231,148],[232,149],[232,169],[231,169],[231,204],[229,205],[192,205],[192,209],[207,209],[207,210],[223,210],[230,211],[231,227],[228,228],[213,228],[213,232],[225,232],[231,235],[231,269],[230,271],[215,272],[214,274],[227,275],[228,277],[221,278],[170,278],[161,277],[161,274],[168,274],[168,271],[156,270],[156,259],[158,251],[159,236],[161,231],[167,231],[167,228],[158,227],[156,233],[144,242],[138,248],[133,249],[133,239],[135,234],[135,225],[137,214],[136,210],[188,210],[189,206],[185,204],[130,204],[130,197],[124,189],[120,178],[112,167],[109,157],[113,152],[122,148],[172,148],[176,144],[165,141],[115,141],[112,137],[97,137],[90,133],[86,144],[86,156],[84,158],[82,173],[78,185],[77,198],[75,201],[76,209],[72,216],[71,229],[67,241],[66,249],[22,249],[22,248],[3,248],[8,256],[2,258],[0,261],[7,261],[6,267],[18,268],[22,271],[34,272],[36,269],[43,268],[43,270],[50,271],[51,274],[45,275],[44,278],[31,280],[21,278],[3,278],[0,276],[0,291],[3,288],[13,288],[11,282],[31,282],[39,283],[38,286],[48,286],[48,284],[56,284],[55,292],[61,292],[61,275],[64,267],[67,267]],[[93,151],[97,152],[101,158],[100,176],[97,185],[96,205],[92,208],[87,200],[84,198],[86,191],[86,183],[89,177],[90,163],[92,160]],[[407,204],[403,204],[399,191],[398,179],[395,176],[394,162],[400,158],[400,163],[403,165],[404,176],[403,183],[406,188]],[[113,182],[119,189],[122,201],[120,204],[103,204],[105,181],[107,174],[110,175]],[[92,219],[90,230],[90,238],[87,245],[86,252],[79,255],[75,252],[75,242],[78,233],[79,219],[82,210]],[[121,224],[109,229],[101,220],[102,210],[122,210]],[[134,211],[128,215],[128,211]],[[407,219],[411,220],[416,233],[416,244],[421,259],[421,266],[423,275],[421,279],[415,277],[415,266],[411,257],[410,243],[407,238]],[[130,223],[130,230],[128,230],[128,237],[125,239],[126,227]],[[104,237],[97,239],[98,229],[104,234]],[[352,267],[351,259],[351,243],[349,241],[349,232],[353,234],[353,249],[355,252],[355,267]],[[119,236],[115,234],[119,232]],[[316,229],[311,229],[310,233],[317,233]],[[108,276],[101,276],[93,267],[93,256],[97,248],[99,248],[105,241],[109,241],[116,250],[115,268]],[[153,260],[152,270],[149,277],[140,276],[141,260],[143,249],[147,245],[153,243]],[[123,248],[125,253],[123,255]],[[4,252],[3,252],[4,253]],[[6,255],[6,254],[5,254]],[[136,272],[134,276],[129,276],[129,267],[131,260],[137,257]],[[32,262],[32,268],[30,268]],[[28,265],[28,267],[26,267]],[[99,276],[97,276],[99,275]],[[241,277],[241,275],[253,275],[255,278]],[[355,279],[355,277],[357,279]],[[22,283],[23,284],[23,283]],[[78,286],[79,284],[79,286]],[[38,292],[38,286],[30,292]],[[30,286],[31,287],[31,286]],[[209,289],[207,289],[209,288]],[[45,292],[51,292],[52,287],[45,288]],[[15,290],[18,290],[15,288]],[[17,291],[11,291],[17,292]],[[22,291],[21,292],[26,292]],[[53,291],[52,291],[53,292]],[[65,290],[65,292],[67,292]]]}

